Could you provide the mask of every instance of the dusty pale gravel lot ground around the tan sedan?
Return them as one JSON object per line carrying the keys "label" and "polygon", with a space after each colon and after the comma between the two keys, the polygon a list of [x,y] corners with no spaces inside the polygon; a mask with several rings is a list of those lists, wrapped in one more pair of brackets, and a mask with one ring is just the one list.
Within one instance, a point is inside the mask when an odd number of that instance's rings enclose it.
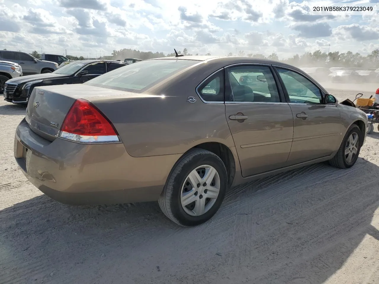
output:
{"label": "dusty pale gravel lot ground around the tan sedan", "polygon": [[[325,86],[351,99],[379,87]],[[379,283],[377,125],[351,169],[316,164],[236,187],[210,222],[181,228],[157,203],[75,207],[43,195],[13,158],[24,113],[0,101],[2,284]]]}

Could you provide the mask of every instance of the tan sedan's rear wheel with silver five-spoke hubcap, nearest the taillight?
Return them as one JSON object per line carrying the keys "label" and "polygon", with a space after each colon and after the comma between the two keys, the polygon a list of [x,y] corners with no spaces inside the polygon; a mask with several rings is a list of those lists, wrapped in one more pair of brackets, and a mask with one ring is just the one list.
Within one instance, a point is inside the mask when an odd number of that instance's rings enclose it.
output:
{"label": "tan sedan's rear wheel with silver five-spoke hubcap, nearest the taillight", "polygon": [[158,204],[166,217],[181,226],[197,226],[216,214],[224,200],[228,176],[214,153],[193,149],[174,165]]}

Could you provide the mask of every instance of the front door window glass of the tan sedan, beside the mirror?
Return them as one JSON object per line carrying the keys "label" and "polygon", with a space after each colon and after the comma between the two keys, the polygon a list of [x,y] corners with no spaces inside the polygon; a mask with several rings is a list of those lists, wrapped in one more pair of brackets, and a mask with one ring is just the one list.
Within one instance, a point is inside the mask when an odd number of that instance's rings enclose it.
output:
{"label": "front door window glass of the tan sedan, beside the mirror", "polygon": [[307,78],[287,69],[277,70],[291,103],[322,103],[323,97],[319,88]]}

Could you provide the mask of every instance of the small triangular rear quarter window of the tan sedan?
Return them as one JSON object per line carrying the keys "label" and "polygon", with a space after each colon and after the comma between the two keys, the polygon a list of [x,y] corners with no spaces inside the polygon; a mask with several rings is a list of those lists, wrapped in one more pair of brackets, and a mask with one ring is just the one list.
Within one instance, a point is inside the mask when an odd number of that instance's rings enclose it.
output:
{"label": "small triangular rear quarter window of the tan sedan", "polygon": [[197,89],[200,97],[205,101],[224,101],[224,70],[221,70],[207,79]]}

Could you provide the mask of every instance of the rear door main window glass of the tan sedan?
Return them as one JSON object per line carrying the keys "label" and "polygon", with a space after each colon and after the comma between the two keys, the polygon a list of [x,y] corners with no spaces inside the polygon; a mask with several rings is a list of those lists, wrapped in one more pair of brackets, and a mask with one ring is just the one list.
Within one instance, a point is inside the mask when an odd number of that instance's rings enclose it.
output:
{"label": "rear door main window glass of the tan sedan", "polygon": [[231,93],[226,101],[279,103],[273,73],[268,66],[235,66],[228,69]]}

